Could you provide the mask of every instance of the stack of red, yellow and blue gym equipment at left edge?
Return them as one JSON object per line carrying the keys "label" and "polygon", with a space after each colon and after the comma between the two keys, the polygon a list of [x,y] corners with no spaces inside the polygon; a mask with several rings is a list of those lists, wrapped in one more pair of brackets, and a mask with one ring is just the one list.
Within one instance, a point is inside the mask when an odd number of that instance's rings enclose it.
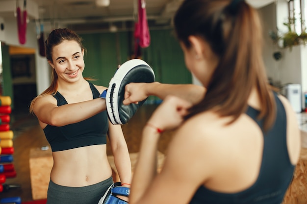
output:
{"label": "stack of red, yellow and blue gym equipment at left edge", "polygon": [[[6,179],[16,177],[13,165],[13,136],[10,130],[11,97],[0,96],[0,192],[6,191],[16,184],[5,184]],[[20,197],[2,198],[0,204],[21,204]]]}

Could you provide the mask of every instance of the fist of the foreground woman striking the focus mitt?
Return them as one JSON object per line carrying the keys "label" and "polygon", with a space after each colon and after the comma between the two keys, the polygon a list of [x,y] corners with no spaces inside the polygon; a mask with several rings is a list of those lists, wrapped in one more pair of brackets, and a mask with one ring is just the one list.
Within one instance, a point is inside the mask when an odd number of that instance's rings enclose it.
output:
{"label": "fist of the foreground woman striking the focus mitt", "polygon": [[125,87],[125,100],[124,105],[129,105],[130,103],[137,104],[148,97],[145,89],[146,83],[129,83]]}

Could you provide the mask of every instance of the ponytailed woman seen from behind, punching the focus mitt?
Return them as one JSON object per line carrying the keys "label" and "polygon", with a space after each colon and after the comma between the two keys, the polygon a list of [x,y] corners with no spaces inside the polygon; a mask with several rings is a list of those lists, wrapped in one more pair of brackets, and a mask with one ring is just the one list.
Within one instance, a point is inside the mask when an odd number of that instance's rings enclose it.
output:
{"label": "ponytailed woman seen from behind, punching the focus mitt", "polygon": [[[281,204],[300,133],[289,102],[267,82],[256,10],[244,0],[183,0],[174,25],[203,88],[126,86],[125,104],[164,99],[143,129],[129,204]],[[159,137],[173,129],[157,174]]]}

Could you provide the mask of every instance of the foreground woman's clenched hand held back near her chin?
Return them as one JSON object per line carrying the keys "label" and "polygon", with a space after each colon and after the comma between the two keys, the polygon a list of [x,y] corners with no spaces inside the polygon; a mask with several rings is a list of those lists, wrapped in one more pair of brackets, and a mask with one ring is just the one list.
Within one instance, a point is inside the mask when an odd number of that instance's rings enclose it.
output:
{"label": "foreground woman's clenched hand held back near her chin", "polygon": [[182,123],[191,107],[191,102],[169,95],[153,112],[148,123],[163,131],[175,129]]}

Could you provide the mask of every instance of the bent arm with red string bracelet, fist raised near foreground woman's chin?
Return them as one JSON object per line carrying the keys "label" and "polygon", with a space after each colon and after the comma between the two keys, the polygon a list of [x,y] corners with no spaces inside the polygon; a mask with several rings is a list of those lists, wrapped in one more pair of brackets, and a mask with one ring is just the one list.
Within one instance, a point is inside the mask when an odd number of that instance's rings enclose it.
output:
{"label": "bent arm with red string bracelet, fist raised near foreground woman's chin", "polygon": [[193,123],[184,124],[176,132],[163,168],[156,173],[159,130],[171,130],[181,125],[182,116],[189,107],[186,101],[167,97],[144,127],[129,204],[187,204],[204,182],[208,175],[205,171],[207,163],[199,161],[204,160],[202,150],[205,145],[195,139],[199,136],[191,129]]}

